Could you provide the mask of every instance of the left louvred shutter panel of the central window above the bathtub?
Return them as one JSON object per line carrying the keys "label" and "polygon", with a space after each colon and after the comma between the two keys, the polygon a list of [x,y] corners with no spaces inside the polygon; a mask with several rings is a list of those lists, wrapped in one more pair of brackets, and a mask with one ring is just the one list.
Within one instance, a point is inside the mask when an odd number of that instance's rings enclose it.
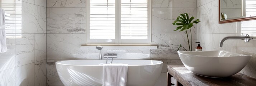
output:
{"label": "left louvred shutter panel of the central window above the bathtub", "polygon": [[115,39],[115,0],[91,0],[90,39]]}

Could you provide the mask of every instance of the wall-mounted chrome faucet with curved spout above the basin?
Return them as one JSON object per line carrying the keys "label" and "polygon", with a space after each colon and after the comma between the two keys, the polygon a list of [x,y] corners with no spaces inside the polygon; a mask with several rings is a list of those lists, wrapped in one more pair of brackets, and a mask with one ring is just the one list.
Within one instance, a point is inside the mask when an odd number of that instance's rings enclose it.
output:
{"label": "wall-mounted chrome faucet with curved spout above the basin", "polygon": [[250,36],[248,34],[246,34],[246,36],[242,37],[242,36],[230,36],[230,37],[224,37],[222,40],[221,40],[221,43],[219,44],[219,47],[222,47],[223,45],[223,42],[225,40],[228,40],[228,39],[241,39],[241,40],[245,40],[245,42],[249,42],[251,39],[253,38],[250,38]]}

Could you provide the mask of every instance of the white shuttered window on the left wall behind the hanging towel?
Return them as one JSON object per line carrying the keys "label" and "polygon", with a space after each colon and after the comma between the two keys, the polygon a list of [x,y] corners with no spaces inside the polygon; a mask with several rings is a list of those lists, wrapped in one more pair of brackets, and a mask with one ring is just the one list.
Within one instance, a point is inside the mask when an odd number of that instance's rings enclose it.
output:
{"label": "white shuttered window on the left wall behind the hanging towel", "polygon": [[15,0],[1,0],[0,8],[5,10],[5,33],[6,38],[21,37],[22,33],[22,3]]}

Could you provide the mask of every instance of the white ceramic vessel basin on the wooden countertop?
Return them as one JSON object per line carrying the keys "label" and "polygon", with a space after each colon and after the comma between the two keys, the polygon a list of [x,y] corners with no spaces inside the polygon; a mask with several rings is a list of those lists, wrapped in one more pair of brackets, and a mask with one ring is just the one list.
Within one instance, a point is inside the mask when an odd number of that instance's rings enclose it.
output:
{"label": "white ceramic vessel basin on the wooden countertop", "polygon": [[228,51],[178,51],[184,66],[191,72],[207,77],[223,78],[232,76],[243,69],[251,55]]}

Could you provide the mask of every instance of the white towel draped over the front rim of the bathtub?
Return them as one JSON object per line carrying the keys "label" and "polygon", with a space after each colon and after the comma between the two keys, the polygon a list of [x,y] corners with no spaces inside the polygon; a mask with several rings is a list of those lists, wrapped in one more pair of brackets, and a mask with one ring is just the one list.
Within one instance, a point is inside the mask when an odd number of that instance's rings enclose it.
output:
{"label": "white towel draped over the front rim of the bathtub", "polygon": [[102,86],[126,86],[128,64],[104,64]]}

